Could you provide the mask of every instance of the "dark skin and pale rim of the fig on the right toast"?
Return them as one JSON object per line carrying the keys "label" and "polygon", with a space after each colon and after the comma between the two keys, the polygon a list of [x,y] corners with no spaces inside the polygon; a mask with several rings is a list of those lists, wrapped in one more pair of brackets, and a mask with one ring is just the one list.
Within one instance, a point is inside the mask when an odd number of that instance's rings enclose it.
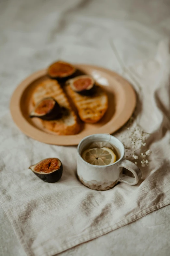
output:
{"label": "dark skin and pale rim of the fig on the right toast", "polygon": [[[74,82],[76,80],[83,79],[83,78],[84,79],[85,78],[91,79],[91,84],[87,87],[87,89],[77,90],[76,86],[74,85]],[[78,94],[84,95],[84,96],[91,96],[91,95],[93,95],[95,93],[95,89],[96,89],[93,78],[91,76],[88,76],[88,75],[78,76],[78,77],[69,79],[69,80],[66,81],[66,84],[69,84],[73,91],[75,91]]]}

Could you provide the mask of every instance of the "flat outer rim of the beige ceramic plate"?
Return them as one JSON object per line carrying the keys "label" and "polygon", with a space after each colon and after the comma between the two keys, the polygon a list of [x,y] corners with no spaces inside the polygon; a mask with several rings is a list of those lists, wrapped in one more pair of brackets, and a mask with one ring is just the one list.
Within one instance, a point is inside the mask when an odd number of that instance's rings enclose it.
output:
{"label": "flat outer rim of the beige ceramic plate", "polygon": [[[109,133],[113,134],[117,130],[119,130],[124,124],[129,120],[129,118],[132,116],[135,106],[136,106],[136,93],[133,88],[133,86],[130,84],[129,81],[127,81],[125,78],[117,74],[116,72],[109,70],[107,68],[103,68],[97,65],[88,65],[88,64],[75,64],[75,66],[78,66],[79,68],[90,68],[90,69],[97,69],[98,71],[102,71],[104,73],[107,73],[108,75],[114,76],[119,78],[123,83],[126,84],[126,86],[123,88],[125,92],[128,92],[128,101],[126,102],[125,106],[128,105],[128,107],[124,108],[124,119],[122,122],[122,118],[118,118],[118,126],[117,128],[112,128],[112,126],[109,126],[109,123],[111,122],[108,121],[105,125],[101,127],[97,127],[96,129],[92,129],[92,132],[87,132],[85,136],[91,135],[91,134],[96,134],[96,133]],[[14,123],[17,125],[17,127],[27,136],[46,143],[46,144],[51,144],[51,145],[78,145],[81,139],[83,139],[85,136],[81,134],[75,134],[75,135],[55,135],[55,134],[50,134],[45,131],[42,131],[34,126],[32,126],[22,115],[21,107],[20,107],[20,101],[23,92],[25,89],[29,86],[30,83],[34,82],[36,79],[46,75],[47,69],[41,69],[38,70],[32,74],[30,74],[28,77],[26,77],[24,80],[21,81],[21,83],[17,86],[17,88],[14,90],[11,100],[10,100],[10,113],[12,116],[12,119]],[[122,84],[123,84],[122,83]],[[131,102],[129,105],[128,103]],[[130,108],[129,108],[130,106]],[[120,121],[120,120],[121,121]],[[107,127],[108,126],[108,127]],[[107,128],[106,132],[101,132],[102,128]],[[38,134],[37,134],[38,133]],[[43,136],[44,133],[46,136]],[[56,138],[56,140],[54,139]],[[57,141],[57,138],[60,138],[59,141]],[[67,139],[66,139],[67,138]]]}

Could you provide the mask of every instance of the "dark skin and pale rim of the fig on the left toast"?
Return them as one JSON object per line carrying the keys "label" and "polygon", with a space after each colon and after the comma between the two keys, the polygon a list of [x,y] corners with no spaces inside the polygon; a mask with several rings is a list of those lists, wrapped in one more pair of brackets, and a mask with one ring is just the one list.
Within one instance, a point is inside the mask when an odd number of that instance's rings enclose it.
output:
{"label": "dark skin and pale rim of the fig on the left toast", "polygon": [[[42,103],[43,101],[45,101],[45,100],[52,100],[52,101],[54,101],[55,103],[54,103],[53,108],[49,112],[44,114],[44,115],[36,113],[36,108],[38,107],[38,105],[40,103]],[[62,115],[62,109],[61,109],[60,105],[58,104],[58,102],[55,99],[53,99],[52,97],[49,97],[49,98],[42,99],[40,102],[38,102],[36,104],[36,106],[34,108],[34,111],[32,111],[31,114],[30,114],[30,117],[31,118],[38,117],[38,118],[40,118],[42,120],[50,121],[50,120],[55,120],[55,119],[61,118],[61,115]]]}

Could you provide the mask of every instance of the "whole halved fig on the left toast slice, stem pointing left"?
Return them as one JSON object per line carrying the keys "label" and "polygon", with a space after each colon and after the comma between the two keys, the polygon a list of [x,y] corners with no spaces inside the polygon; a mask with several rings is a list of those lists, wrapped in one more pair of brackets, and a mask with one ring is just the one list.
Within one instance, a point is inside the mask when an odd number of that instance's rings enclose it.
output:
{"label": "whole halved fig on the left toast slice, stem pointing left", "polygon": [[44,98],[35,105],[30,117],[38,117],[42,120],[55,120],[61,116],[61,108],[58,102],[52,98]]}

